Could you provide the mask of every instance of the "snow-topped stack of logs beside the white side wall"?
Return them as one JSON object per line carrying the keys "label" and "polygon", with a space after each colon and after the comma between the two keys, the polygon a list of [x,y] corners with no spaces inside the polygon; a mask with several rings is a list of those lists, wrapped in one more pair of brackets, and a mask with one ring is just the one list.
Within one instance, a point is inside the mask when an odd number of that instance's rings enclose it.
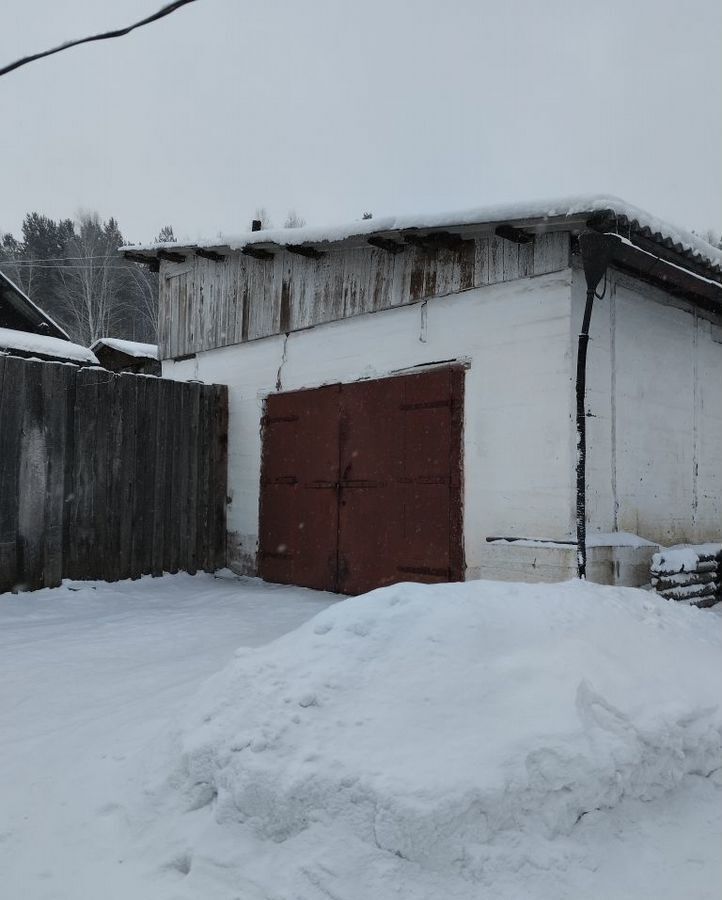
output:
{"label": "snow-topped stack of logs beside the white side wall", "polygon": [[670,600],[712,606],[722,600],[722,544],[671,547],[652,557],[652,587]]}

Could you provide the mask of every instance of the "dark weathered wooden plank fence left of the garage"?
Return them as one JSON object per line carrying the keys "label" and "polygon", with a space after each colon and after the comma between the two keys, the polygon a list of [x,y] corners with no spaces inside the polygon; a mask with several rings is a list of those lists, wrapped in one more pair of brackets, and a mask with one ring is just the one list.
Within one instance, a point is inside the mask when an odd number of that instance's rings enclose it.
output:
{"label": "dark weathered wooden plank fence left of the garage", "polygon": [[225,564],[227,389],[0,356],[0,591]]}

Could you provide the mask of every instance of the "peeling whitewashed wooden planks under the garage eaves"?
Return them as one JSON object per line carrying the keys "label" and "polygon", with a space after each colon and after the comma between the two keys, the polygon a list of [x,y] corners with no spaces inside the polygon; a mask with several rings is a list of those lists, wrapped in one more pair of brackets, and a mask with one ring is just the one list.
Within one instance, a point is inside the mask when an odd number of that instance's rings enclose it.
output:
{"label": "peeling whitewashed wooden planks under the garage eaves", "polygon": [[517,244],[496,235],[459,248],[407,246],[394,254],[369,245],[332,247],[319,259],[278,250],[271,260],[229,253],[221,262],[190,255],[164,261],[160,354],[186,356],[362,313],[517,278],[570,264],[569,234]]}

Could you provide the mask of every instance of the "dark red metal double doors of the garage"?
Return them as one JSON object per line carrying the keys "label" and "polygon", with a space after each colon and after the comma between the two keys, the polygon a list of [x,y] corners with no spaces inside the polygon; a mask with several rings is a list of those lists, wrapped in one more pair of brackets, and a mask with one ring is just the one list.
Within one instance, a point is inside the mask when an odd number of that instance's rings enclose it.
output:
{"label": "dark red metal double doors of the garage", "polygon": [[360,594],[463,578],[463,369],[266,400],[259,568]]}

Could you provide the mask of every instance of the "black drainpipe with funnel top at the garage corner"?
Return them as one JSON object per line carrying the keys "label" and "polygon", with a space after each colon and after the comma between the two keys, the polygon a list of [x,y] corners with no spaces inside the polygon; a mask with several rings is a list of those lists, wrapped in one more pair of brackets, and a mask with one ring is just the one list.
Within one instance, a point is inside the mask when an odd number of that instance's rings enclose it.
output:
{"label": "black drainpipe with funnel top at the garage corner", "polygon": [[582,330],[577,344],[577,575],[587,577],[587,346],[589,344],[589,324],[592,318],[594,297],[597,286],[607,273],[614,246],[617,241],[608,234],[587,231],[579,235],[579,249],[582,254],[584,277],[587,282],[587,301],[584,306]]}

